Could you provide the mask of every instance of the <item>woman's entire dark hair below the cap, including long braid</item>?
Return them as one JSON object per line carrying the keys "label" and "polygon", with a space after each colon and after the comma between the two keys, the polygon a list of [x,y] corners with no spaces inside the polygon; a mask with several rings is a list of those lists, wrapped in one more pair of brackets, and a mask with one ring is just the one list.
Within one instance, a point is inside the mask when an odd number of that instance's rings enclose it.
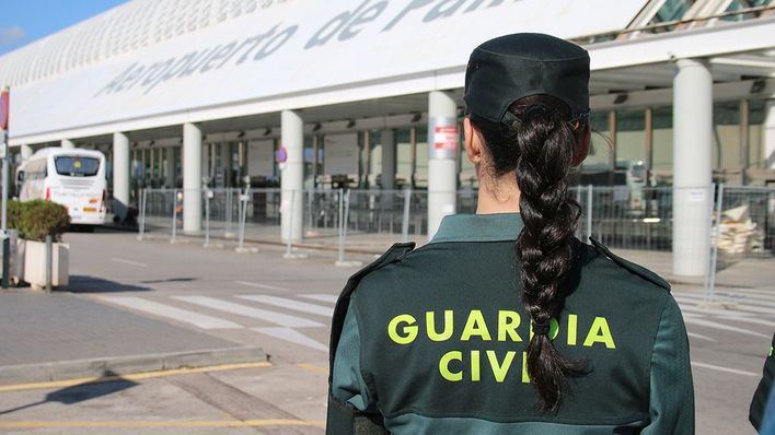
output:
{"label": "woman's entire dark hair below the cap, including long braid", "polygon": [[[521,98],[509,107],[516,117],[507,126],[471,114],[489,152],[490,172],[517,172],[520,214],[524,227],[517,240],[522,301],[535,326],[528,344],[528,373],[545,412],[559,410],[570,376],[585,371],[581,361],[563,357],[547,334],[550,320],[565,302],[575,258],[576,225],[581,208],[568,196],[568,179],[586,120],[571,120],[570,108],[548,95]],[[539,329],[543,329],[539,331]]]}

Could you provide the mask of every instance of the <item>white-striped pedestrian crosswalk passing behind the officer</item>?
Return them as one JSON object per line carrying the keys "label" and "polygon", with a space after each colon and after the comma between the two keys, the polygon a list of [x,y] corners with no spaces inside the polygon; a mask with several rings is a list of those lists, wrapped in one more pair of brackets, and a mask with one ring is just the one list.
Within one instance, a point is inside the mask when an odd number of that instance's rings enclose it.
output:
{"label": "white-striped pedestrian crosswalk passing behind the officer", "polygon": [[[337,295],[294,294],[287,289],[251,285],[266,293],[218,295],[103,296],[130,310],[183,322],[204,330],[247,330],[292,344],[326,352],[326,328]],[[768,339],[775,332],[775,291],[729,290],[714,303],[697,292],[674,292],[691,340],[718,341],[737,337]]]}

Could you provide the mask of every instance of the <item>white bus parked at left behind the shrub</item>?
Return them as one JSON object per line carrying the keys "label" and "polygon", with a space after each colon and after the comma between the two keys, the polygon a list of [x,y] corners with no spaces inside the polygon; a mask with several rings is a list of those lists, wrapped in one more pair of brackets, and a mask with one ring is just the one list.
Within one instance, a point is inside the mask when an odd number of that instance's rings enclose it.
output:
{"label": "white bus parked at left behind the shrub", "polygon": [[16,169],[16,185],[20,201],[60,203],[74,225],[105,223],[105,155],[100,151],[39,150]]}

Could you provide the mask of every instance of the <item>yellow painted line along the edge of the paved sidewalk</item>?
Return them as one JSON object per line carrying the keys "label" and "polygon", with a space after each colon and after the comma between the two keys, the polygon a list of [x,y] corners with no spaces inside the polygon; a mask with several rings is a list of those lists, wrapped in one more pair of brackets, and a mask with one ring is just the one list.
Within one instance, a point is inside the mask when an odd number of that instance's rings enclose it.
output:
{"label": "yellow painted line along the edge of the paved sidewalk", "polygon": [[177,376],[177,375],[190,375],[190,374],[195,374],[195,373],[227,372],[227,371],[240,371],[240,369],[245,369],[245,368],[262,368],[262,367],[271,367],[271,363],[259,362],[259,363],[222,364],[222,365],[211,365],[211,366],[195,367],[195,368],[183,367],[183,368],[173,368],[173,369],[169,369],[169,371],[131,373],[131,374],[115,375],[115,376],[83,377],[83,378],[67,379],[67,380],[53,380],[53,381],[48,381],[48,383],[3,385],[3,386],[0,386],[0,392],[67,388],[67,387],[73,387],[77,385],[84,385],[84,384],[103,384],[103,383],[113,383],[116,380],[144,380],[144,379],[153,379],[153,378]]}

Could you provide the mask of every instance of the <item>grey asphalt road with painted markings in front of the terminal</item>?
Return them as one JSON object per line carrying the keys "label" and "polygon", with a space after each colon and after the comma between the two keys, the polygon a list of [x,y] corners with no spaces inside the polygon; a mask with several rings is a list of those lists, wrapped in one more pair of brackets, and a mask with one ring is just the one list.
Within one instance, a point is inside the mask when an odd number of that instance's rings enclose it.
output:
{"label": "grey asphalt road with painted markings in front of the terminal", "polygon": [[[285,260],[276,247],[236,254],[107,232],[66,239],[78,297],[262,345],[271,365],[0,390],[0,432],[323,433],[328,322],[354,268],[324,255]],[[673,293],[692,342],[697,433],[753,434],[748,405],[775,330],[775,289],[722,289],[736,304],[715,310],[698,289]]]}

